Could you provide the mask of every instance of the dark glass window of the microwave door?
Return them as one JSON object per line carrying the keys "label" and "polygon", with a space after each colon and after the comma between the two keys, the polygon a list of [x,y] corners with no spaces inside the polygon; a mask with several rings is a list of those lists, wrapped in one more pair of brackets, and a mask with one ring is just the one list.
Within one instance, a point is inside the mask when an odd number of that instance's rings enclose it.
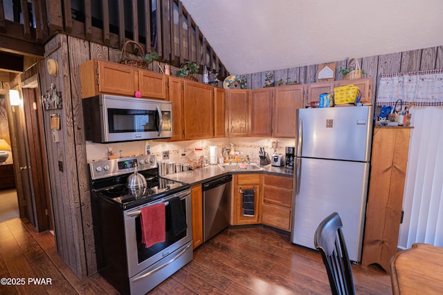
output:
{"label": "dark glass window of the microwave door", "polygon": [[159,131],[157,111],[108,108],[109,133]]}

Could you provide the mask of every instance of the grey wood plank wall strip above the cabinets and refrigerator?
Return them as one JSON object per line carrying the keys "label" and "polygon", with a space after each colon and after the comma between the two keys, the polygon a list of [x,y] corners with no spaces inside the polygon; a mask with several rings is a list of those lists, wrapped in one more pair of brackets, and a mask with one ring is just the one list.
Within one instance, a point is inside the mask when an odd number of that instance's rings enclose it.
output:
{"label": "grey wood plank wall strip above the cabinets and refrigerator", "polygon": [[[443,68],[443,46],[424,48],[419,50],[404,51],[401,53],[390,53],[387,55],[375,55],[372,57],[359,58],[361,68],[366,74],[363,77],[372,77],[372,104],[377,95],[377,85],[380,76],[386,73],[404,73],[416,70],[433,70]],[[334,61],[332,61],[334,62]],[[347,60],[335,61],[336,80],[341,80],[340,68],[347,67]],[[266,74],[273,73],[274,81],[297,81],[300,84],[316,82],[316,73],[319,64],[286,68],[282,70],[268,70],[260,73],[242,75],[246,78],[247,87],[250,89],[264,87]]]}

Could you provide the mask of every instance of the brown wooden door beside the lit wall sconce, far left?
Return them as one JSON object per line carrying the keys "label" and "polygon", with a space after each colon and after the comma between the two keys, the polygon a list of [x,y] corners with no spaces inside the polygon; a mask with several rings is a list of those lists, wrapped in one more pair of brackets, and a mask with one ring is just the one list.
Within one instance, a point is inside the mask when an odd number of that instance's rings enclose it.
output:
{"label": "brown wooden door beside the lit wall sconce, far left", "polygon": [[21,88],[21,97],[17,104],[6,99],[19,217],[45,231],[53,229],[53,221],[37,83]]}

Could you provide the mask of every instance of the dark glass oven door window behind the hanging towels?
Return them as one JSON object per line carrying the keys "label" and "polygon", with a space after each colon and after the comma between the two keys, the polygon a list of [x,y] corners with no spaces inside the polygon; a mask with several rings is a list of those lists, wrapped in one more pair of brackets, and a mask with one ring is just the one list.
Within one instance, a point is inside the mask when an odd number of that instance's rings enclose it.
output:
{"label": "dark glass oven door window behind the hanging towels", "polygon": [[[181,207],[183,207],[183,212],[186,216],[186,200],[181,200]],[[159,254],[164,249],[170,247],[175,242],[178,242],[182,238],[186,237],[187,230],[182,231],[177,236],[172,235],[171,230],[171,218],[174,218],[170,213],[170,206],[165,206],[165,219],[166,219],[166,234],[165,234],[165,242],[158,242],[152,245],[149,248],[145,247],[145,244],[141,242],[141,222],[140,216],[136,217],[136,239],[137,239],[137,252],[138,252],[138,263],[143,263],[143,261],[149,259],[155,254]]]}

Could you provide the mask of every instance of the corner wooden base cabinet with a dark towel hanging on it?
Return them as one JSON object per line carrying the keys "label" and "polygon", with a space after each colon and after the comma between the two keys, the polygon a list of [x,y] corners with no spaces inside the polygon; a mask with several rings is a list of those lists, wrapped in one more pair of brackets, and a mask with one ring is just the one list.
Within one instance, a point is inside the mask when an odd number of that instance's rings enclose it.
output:
{"label": "corner wooden base cabinet with a dark towel hanging on it", "polygon": [[[232,225],[251,225],[260,223],[260,203],[261,203],[261,174],[236,174],[233,175],[233,202],[231,211]],[[243,211],[243,191],[254,189],[254,216],[244,216]]]}

